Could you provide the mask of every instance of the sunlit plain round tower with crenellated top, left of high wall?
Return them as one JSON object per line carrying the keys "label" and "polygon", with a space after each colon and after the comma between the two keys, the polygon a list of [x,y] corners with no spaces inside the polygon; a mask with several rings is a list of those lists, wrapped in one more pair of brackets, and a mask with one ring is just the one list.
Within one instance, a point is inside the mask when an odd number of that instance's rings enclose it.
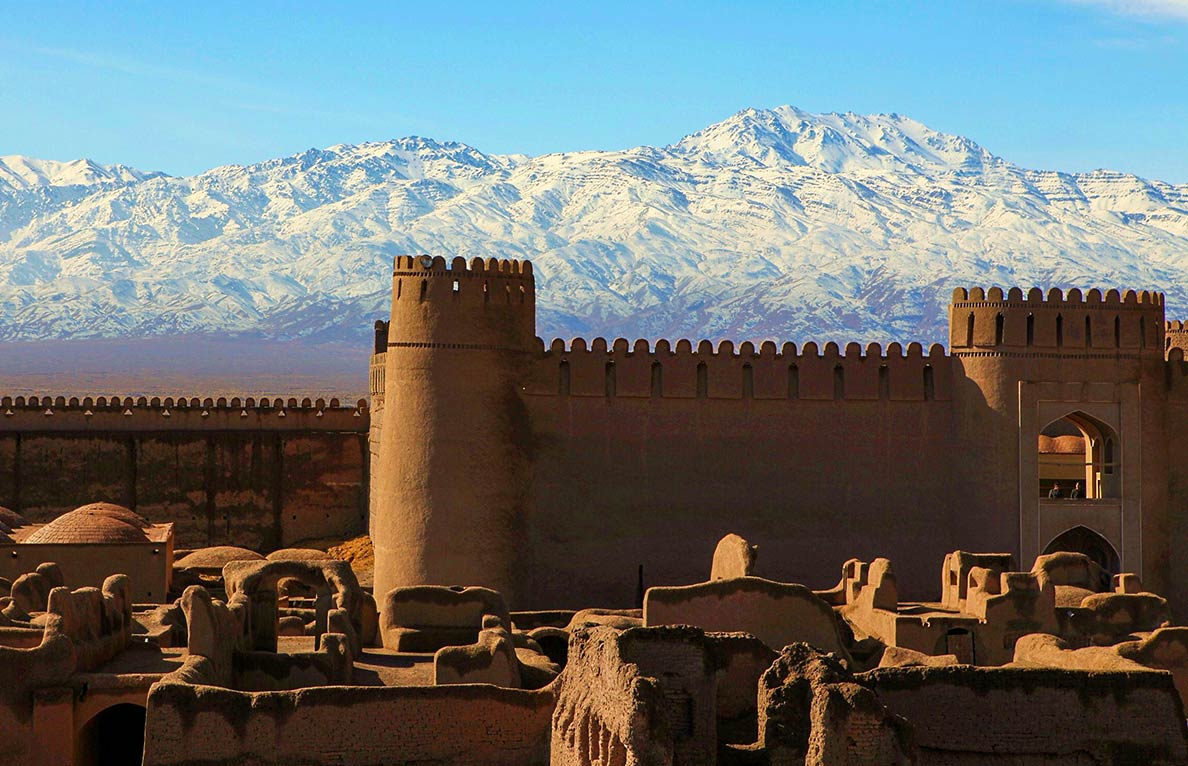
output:
{"label": "sunlit plain round tower with crenellated top, left of high wall", "polygon": [[519,386],[535,338],[530,262],[396,259],[369,524],[380,604],[413,584],[516,599],[531,448]]}

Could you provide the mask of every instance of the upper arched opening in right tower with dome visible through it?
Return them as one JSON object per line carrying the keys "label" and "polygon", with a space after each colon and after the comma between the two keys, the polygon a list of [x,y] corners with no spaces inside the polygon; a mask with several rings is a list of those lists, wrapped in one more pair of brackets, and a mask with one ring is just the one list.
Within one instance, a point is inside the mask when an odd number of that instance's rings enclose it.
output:
{"label": "upper arched opening in right tower with dome visible through it", "polygon": [[1070,412],[1040,431],[1040,496],[1062,500],[1119,498],[1119,442],[1113,429]]}

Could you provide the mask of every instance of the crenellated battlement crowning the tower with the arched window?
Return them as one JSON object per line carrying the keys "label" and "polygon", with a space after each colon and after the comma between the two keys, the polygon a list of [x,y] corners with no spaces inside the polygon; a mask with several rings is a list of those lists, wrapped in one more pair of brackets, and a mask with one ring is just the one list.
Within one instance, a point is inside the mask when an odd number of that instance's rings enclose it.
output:
{"label": "crenellated battlement crowning the tower with the arched window", "polygon": [[[1117,356],[1162,352],[1164,296],[1154,291],[1054,287],[1004,292],[958,287],[949,308],[949,347],[987,353]],[[993,349],[993,350],[991,350]]]}

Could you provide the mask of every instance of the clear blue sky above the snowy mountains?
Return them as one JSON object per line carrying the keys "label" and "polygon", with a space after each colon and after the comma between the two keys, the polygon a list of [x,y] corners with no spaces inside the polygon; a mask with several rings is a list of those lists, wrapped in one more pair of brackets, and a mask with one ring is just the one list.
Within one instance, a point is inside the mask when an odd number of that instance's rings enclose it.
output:
{"label": "clear blue sky above the snowy mountains", "polygon": [[345,5],[5,0],[0,154],[191,173],[410,134],[535,154],[791,103],[1188,182],[1188,0]]}

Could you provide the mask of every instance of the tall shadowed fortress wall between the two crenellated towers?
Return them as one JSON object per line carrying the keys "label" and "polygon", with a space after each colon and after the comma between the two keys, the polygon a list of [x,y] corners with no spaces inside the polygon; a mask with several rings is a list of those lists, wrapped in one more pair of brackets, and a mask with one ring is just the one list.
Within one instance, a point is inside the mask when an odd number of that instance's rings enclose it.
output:
{"label": "tall shadowed fortress wall between the two crenellated towers", "polygon": [[[516,608],[634,606],[640,564],[645,584],[702,582],[728,532],[759,543],[763,576],[811,587],[832,585],[847,558],[890,557],[909,599],[940,596],[935,569],[948,550],[1016,549],[1013,518],[961,523],[950,360],[940,349],[841,356],[830,344],[819,356],[765,344],[747,357],[727,344],[716,354],[678,344],[669,356],[663,346],[649,355],[582,346],[554,344],[525,395],[535,438],[525,566],[536,581],[531,603]],[[662,395],[638,395],[639,371],[657,359]],[[569,395],[555,387],[565,361]],[[608,361],[613,395],[590,382]],[[744,398],[748,361],[753,397]],[[791,365],[796,398],[786,395]],[[883,365],[890,395],[879,398]],[[843,398],[833,399],[839,366]]]}

